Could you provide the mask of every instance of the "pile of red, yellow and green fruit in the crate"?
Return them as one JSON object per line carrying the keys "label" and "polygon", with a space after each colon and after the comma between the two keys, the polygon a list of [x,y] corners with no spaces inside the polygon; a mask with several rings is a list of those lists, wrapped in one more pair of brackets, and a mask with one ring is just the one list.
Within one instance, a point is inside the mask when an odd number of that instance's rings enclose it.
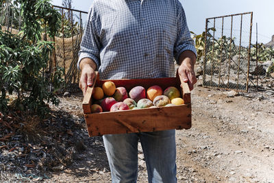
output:
{"label": "pile of red, yellow and green fruit in the crate", "polygon": [[136,110],[141,108],[156,108],[184,104],[179,90],[170,86],[163,92],[158,85],[145,90],[135,86],[129,93],[124,87],[115,86],[114,82],[104,82],[102,87],[95,87],[92,95],[91,112],[114,112],[119,110]]}

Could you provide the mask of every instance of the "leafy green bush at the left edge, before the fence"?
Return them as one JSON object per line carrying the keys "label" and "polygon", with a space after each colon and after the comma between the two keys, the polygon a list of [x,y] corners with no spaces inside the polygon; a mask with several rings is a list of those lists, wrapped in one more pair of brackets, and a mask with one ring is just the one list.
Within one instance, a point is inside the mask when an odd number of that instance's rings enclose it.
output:
{"label": "leafy green bush at the left edge, before the fence", "polygon": [[54,47],[53,42],[41,40],[39,21],[45,21],[53,37],[60,25],[60,14],[51,8],[49,0],[17,0],[14,5],[21,6],[22,31],[19,36],[0,32],[0,111],[8,111],[7,95],[16,93],[16,110],[43,116],[49,112],[47,103],[58,105],[56,94],[64,80],[62,69],[47,72]]}

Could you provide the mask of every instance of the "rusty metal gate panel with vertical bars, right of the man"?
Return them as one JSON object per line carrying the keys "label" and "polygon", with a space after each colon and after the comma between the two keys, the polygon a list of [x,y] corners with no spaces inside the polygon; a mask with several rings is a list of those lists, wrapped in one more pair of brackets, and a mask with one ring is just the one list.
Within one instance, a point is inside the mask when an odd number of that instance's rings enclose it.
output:
{"label": "rusty metal gate panel with vertical bars, right of the man", "polygon": [[203,86],[246,90],[249,77],[253,12],[206,19]]}

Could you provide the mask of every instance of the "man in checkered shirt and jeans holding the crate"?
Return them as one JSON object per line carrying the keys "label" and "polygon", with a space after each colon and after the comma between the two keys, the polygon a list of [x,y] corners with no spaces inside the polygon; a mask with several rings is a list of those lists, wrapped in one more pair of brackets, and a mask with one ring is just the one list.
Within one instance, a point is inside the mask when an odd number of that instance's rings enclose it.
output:
{"label": "man in checkered shirt and jeans holding the crate", "polygon": [[[173,77],[173,57],[190,90],[196,50],[178,0],[95,0],[79,51],[79,87],[101,79]],[[104,135],[112,182],[136,182],[138,141],[149,182],[177,182],[175,130]]]}

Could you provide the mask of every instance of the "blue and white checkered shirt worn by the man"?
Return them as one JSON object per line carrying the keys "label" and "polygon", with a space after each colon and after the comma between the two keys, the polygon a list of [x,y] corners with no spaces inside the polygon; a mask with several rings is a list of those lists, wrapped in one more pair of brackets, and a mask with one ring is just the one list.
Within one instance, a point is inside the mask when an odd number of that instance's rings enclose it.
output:
{"label": "blue and white checkered shirt worn by the man", "polygon": [[178,0],[95,0],[79,51],[101,79],[173,77],[180,53],[196,54]]}

